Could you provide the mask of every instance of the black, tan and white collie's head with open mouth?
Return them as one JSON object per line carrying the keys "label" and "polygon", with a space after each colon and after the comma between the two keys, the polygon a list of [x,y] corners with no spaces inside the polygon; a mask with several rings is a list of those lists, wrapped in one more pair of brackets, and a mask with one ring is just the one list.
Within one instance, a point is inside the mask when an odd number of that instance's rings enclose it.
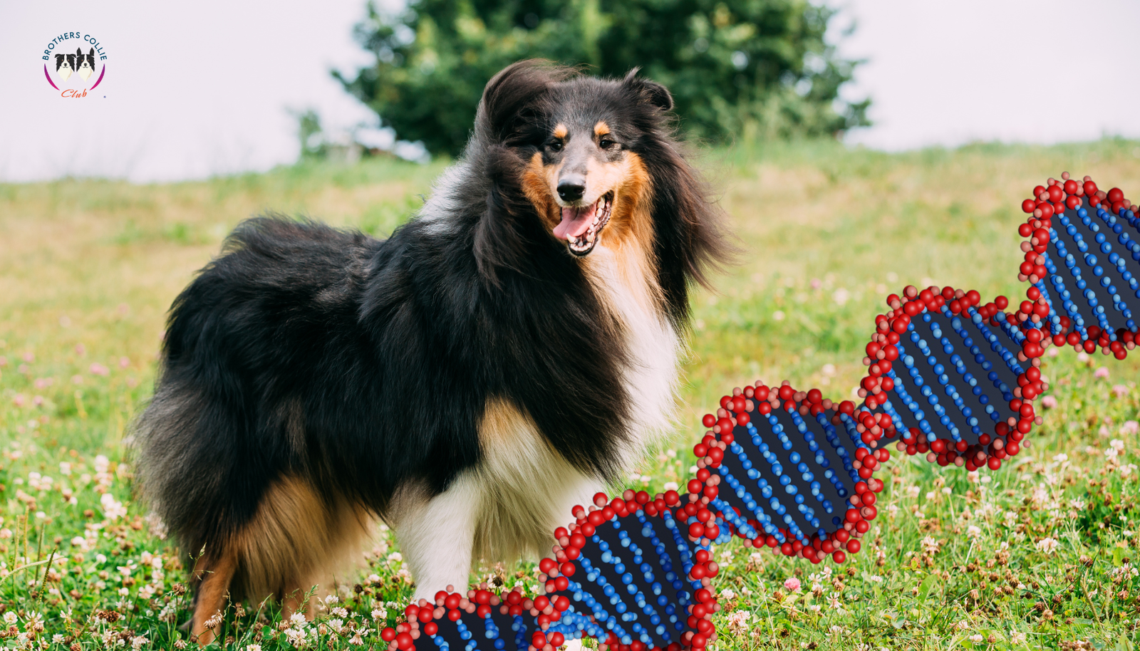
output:
{"label": "black, tan and white collie's head with open mouth", "polygon": [[492,180],[477,233],[480,267],[516,267],[543,246],[588,263],[606,249],[646,262],[676,319],[687,285],[728,253],[720,210],[674,139],[673,97],[630,71],[585,76],[543,60],[499,72],[483,90],[465,157]]}

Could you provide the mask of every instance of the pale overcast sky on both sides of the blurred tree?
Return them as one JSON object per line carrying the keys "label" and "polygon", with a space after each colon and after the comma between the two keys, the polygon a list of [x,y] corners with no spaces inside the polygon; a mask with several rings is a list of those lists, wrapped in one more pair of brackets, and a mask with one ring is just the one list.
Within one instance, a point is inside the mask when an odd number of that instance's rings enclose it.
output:
{"label": "pale overcast sky on both sides of the blurred tree", "polygon": [[[849,143],[1140,137],[1135,0],[832,5],[842,8],[837,32],[857,25],[842,51],[868,59],[845,95],[874,100],[874,127]],[[351,38],[363,14],[364,0],[0,0],[0,180],[173,180],[293,162],[291,109],[316,108],[332,128],[375,121],[328,74],[367,63]],[[106,74],[88,97],[65,99],[41,57],[76,31],[99,41]],[[88,46],[57,47],[75,44]],[[73,76],[60,90],[95,80]]]}

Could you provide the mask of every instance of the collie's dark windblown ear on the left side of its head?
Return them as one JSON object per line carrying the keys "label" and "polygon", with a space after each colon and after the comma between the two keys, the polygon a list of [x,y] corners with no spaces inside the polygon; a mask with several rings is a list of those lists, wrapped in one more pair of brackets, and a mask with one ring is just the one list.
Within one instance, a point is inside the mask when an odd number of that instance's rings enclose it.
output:
{"label": "collie's dark windblown ear on the left side of its head", "polygon": [[483,88],[475,115],[477,129],[492,141],[508,141],[519,127],[519,117],[532,109],[553,84],[576,74],[573,68],[545,59],[527,59],[508,65]]}

